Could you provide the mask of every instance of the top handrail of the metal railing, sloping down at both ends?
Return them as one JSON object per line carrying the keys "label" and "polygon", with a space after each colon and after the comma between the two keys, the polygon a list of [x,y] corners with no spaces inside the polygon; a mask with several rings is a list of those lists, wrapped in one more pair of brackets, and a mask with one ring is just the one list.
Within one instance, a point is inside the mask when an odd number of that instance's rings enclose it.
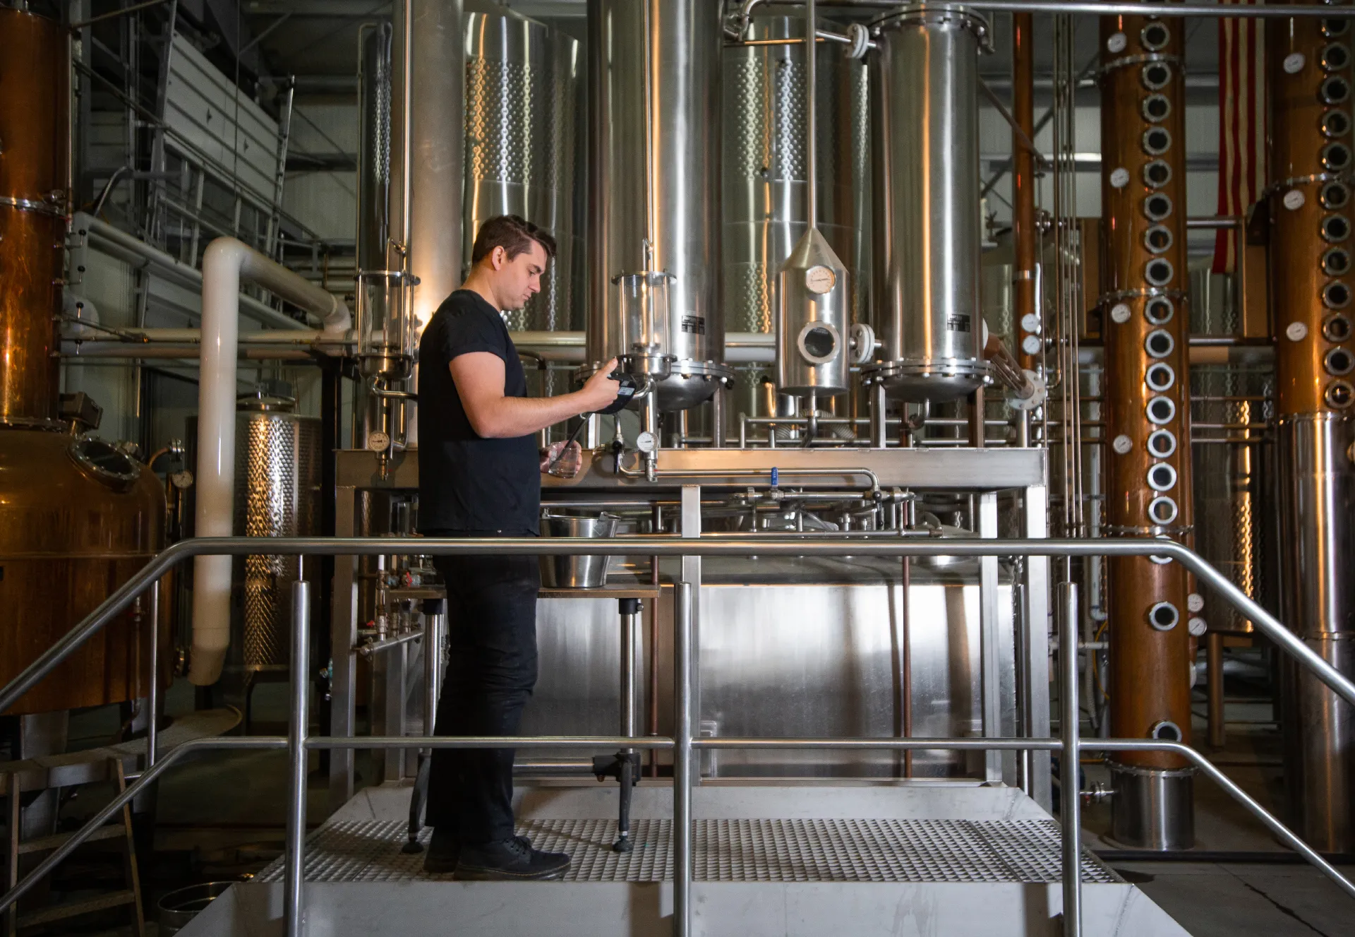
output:
{"label": "top handrail of the metal railing, sloping down at both ends", "polygon": [[[0,690],[0,713],[33,689],[54,667],[75,652],[85,640],[123,612],[153,579],[183,560],[199,555],[248,556],[267,553],[278,556],[381,556],[408,553],[408,537],[192,537],[165,548],[125,582],[99,607],[72,628],[66,635],[28,664]],[[841,545],[836,541],[806,542],[793,537],[768,536],[744,540],[722,536],[695,538],[635,537],[627,541],[637,555],[650,556],[814,556],[836,555]],[[617,549],[612,541],[593,538],[551,537],[542,544],[535,537],[485,537],[467,540],[419,540],[423,556],[455,556],[477,553],[486,556],[603,556]],[[1341,698],[1355,704],[1355,681],[1343,675],[1312,651],[1270,612],[1257,605],[1233,584],[1232,579],[1206,563],[1198,553],[1182,544],[1156,538],[1122,540],[1068,540],[1068,538],[881,538],[852,544],[856,556],[1164,556],[1180,563],[1195,574],[1199,584],[1217,591],[1224,601],[1249,618],[1285,652],[1314,673]],[[1160,749],[1169,751],[1169,749]]]}

